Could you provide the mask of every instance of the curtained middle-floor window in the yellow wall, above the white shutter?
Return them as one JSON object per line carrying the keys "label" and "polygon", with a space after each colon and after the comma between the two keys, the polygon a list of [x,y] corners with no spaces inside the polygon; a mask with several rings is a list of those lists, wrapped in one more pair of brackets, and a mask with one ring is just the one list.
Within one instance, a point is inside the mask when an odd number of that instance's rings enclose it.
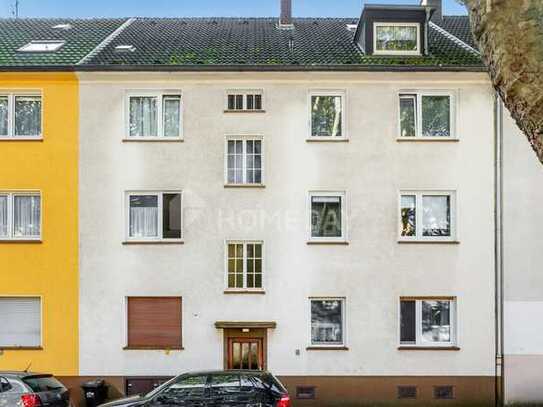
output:
{"label": "curtained middle-floor window in the yellow wall, above the white shutter", "polygon": [[41,195],[0,191],[0,240],[38,240],[41,236]]}

